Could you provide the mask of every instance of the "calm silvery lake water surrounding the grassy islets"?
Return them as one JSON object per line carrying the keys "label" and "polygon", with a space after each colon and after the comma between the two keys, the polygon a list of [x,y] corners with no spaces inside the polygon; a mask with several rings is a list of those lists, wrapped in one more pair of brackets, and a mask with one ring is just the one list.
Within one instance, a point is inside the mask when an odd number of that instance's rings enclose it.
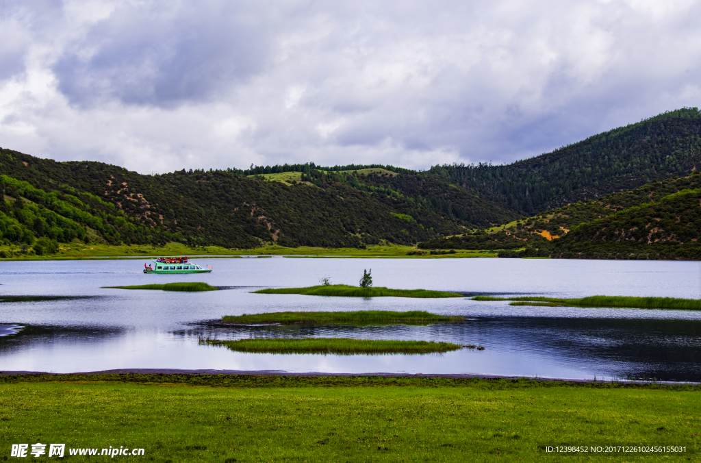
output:
{"label": "calm silvery lake water surrounding the grassy islets", "polygon": [[[520,259],[193,259],[212,274],[146,275],[145,260],[0,263],[0,370],[120,368],[327,373],[474,373],[701,381],[701,312],[511,307],[508,302],[251,294],[257,288],[358,284],[469,294],[700,297],[697,262]],[[100,289],[205,281],[207,293]],[[2,296],[34,296],[7,298]],[[38,297],[43,296],[43,297]],[[51,296],[51,297],[46,297]],[[35,300],[36,299],[36,300]],[[220,326],[264,311],[428,310],[463,315],[424,326]],[[199,337],[340,336],[481,344],[426,355],[245,354]]]}

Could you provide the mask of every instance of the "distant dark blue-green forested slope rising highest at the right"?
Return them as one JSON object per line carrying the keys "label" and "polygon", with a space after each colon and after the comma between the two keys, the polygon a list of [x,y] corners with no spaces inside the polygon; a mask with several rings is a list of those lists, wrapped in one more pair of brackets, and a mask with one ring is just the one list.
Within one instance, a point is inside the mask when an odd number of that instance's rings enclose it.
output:
{"label": "distant dark blue-green forested slope rising highest at the right", "polygon": [[701,168],[701,112],[685,108],[506,166],[434,166],[482,198],[533,215]]}

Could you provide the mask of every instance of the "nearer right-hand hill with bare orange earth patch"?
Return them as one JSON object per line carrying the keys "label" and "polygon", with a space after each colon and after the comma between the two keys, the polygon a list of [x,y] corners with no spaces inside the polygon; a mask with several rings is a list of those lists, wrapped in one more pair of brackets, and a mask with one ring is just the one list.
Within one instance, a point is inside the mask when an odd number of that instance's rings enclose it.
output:
{"label": "nearer right-hand hill with bare orange earth patch", "polygon": [[420,248],[518,249],[500,257],[701,259],[701,174],[652,182]]}

